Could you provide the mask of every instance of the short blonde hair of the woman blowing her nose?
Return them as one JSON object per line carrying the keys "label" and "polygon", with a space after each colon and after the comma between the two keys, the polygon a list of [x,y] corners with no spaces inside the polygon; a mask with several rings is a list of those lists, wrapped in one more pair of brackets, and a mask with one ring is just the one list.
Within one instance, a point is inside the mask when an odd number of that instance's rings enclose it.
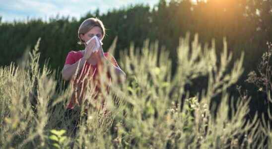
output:
{"label": "short blonde hair of the woman blowing her nose", "polygon": [[99,20],[98,18],[91,17],[91,18],[85,19],[78,28],[78,38],[79,38],[78,44],[83,44],[84,43],[84,41],[80,38],[80,35],[81,34],[84,35],[85,33],[90,31],[95,26],[101,28],[101,30],[102,30],[101,40],[104,38],[104,36],[105,36],[105,27],[104,27],[102,21]]}

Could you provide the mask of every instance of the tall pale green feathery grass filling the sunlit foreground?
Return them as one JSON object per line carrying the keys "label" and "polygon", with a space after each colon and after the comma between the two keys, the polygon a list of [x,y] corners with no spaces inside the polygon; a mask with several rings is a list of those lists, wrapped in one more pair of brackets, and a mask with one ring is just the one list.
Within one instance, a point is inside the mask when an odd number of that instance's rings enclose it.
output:
{"label": "tall pale green feathery grass filling the sunlit foreground", "polygon": [[[132,45],[120,53],[119,65],[127,79],[117,83],[112,75],[110,94],[104,95],[105,108],[96,108],[101,99],[92,99],[91,85],[84,104],[73,112],[65,109],[73,85],[66,87],[59,71],[48,65],[39,67],[39,41],[20,65],[0,68],[3,149],[269,148],[270,127],[260,125],[257,115],[247,121],[249,99],[231,97],[227,91],[243,73],[244,55],[231,63],[225,40],[217,57],[214,42],[203,47],[197,35],[192,43],[189,35],[181,38],[173,77],[169,52],[158,53],[158,43],[146,40],[141,49]],[[228,67],[230,72],[226,72]],[[202,76],[207,78],[207,87],[189,96],[185,85]],[[215,96],[221,100],[214,102]]]}

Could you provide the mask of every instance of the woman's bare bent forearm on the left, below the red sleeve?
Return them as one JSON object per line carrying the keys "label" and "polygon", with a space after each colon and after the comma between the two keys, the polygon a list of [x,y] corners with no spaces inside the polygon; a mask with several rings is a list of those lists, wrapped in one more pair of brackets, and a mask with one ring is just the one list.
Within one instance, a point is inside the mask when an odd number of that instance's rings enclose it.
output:
{"label": "woman's bare bent forearm on the left, below the red sleeve", "polygon": [[77,67],[78,67],[78,70],[81,70],[85,62],[86,60],[84,58],[81,58],[76,63],[69,65],[67,67],[64,67],[62,70],[63,79],[69,80],[71,76],[75,74]]}

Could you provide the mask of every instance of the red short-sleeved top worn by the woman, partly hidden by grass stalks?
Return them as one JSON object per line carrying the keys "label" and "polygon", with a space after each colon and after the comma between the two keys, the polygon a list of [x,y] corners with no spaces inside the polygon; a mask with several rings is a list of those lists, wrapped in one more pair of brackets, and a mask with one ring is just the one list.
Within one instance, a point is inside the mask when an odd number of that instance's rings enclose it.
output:
{"label": "red short-sleeved top worn by the woman, partly hidden by grass stalks", "polygon": [[[104,56],[107,60],[110,60],[110,62],[114,66],[119,68],[115,58],[110,53],[104,53]],[[83,57],[83,55],[80,51],[70,51],[68,53],[67,58],[66,58],[65,64],[70,64],[70,65],[74,64],[82,57]],[[96,80],[96,78],[99,77],[98,69],[99,69],[99,63],[96,65],[91,65],[86,62],[84,64],[83,68],[81,70],[79,70],[77,74],[75,74],[73,76],[73,78],[71,80],[72,80],[72,83],[74,86],[74,90],[73,90],[73,94],[70,98],[69,104],[66,107],[67,109],[73,109],[75,104],[77,102],[80,103],[81,99],[84,97],[84,92],[85,92],[85,88],[86,88],[86,84],[87,84],[86,81],[89,81],[89,79],[86,79],[86,78],[84,79],[85,75],[89,75],[88,77],[91,77],[91,83],[96,83],[96,86],[95,86],[96,94],[94,96],[94,99],[96,99],[98,97],[98,95],[100,95],[99,93],[101,93],[101,89],[100,89],[101,84],[97,81],[94,81],[94,80]],[[111,77],[110,77],[109,72],[107,72],[107,76],[109,78],[109,83],[110,83]],[[90,82],[88,82],[88,83],[90,83]],[[109,92],[109,86],[107,86],[107,92]]]}

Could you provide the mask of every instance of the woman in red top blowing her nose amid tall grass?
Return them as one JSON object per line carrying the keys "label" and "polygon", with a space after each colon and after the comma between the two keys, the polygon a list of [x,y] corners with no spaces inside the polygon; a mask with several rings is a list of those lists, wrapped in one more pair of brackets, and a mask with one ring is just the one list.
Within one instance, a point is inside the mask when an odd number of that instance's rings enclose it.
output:
{"label": "woman in red top blowing her nose amid tall grass", "polygon": [[[103,52],[101,42],[99,50],[96,52],[93,52],[96,46],[95,40],[91,40],[86,44],[86,42],[94,36],[97,36],[99,40],[102,41],[105,36],[105,27],[101,20],[88,18],[81,23],[78,29],[79,44],[84,44],[85,49],[81,51],[70,51],[66,58],[62,76],[65,80],[72,80],[74,86],[74,92],[67,105],[68,109],[73,109],[76,103],[81,103],[85,95],[86,84],[97,83],[97,81],[93,80],[99,80],[97,78],[99,77],[100,70],[103,68],[107,68],[107,70],[113,69],[119,78],[122,76],[126,77],[126,74],[118,66],[115,58],[111,54]],[[77,68],[79,70],[78,73],[76,73]],[[109,81],[111,81],[109,72],[107,72],[107,74]],[[91,78],[91,80],[85,79],[86,75]],[[86,83],[86,81],[88,82]],[[95,91],[97,92],[94,97],[95,99],[99,96],[99,93],[102,92],[99,86],[100,83],[98,82],[97,84],[95,87]]]}

